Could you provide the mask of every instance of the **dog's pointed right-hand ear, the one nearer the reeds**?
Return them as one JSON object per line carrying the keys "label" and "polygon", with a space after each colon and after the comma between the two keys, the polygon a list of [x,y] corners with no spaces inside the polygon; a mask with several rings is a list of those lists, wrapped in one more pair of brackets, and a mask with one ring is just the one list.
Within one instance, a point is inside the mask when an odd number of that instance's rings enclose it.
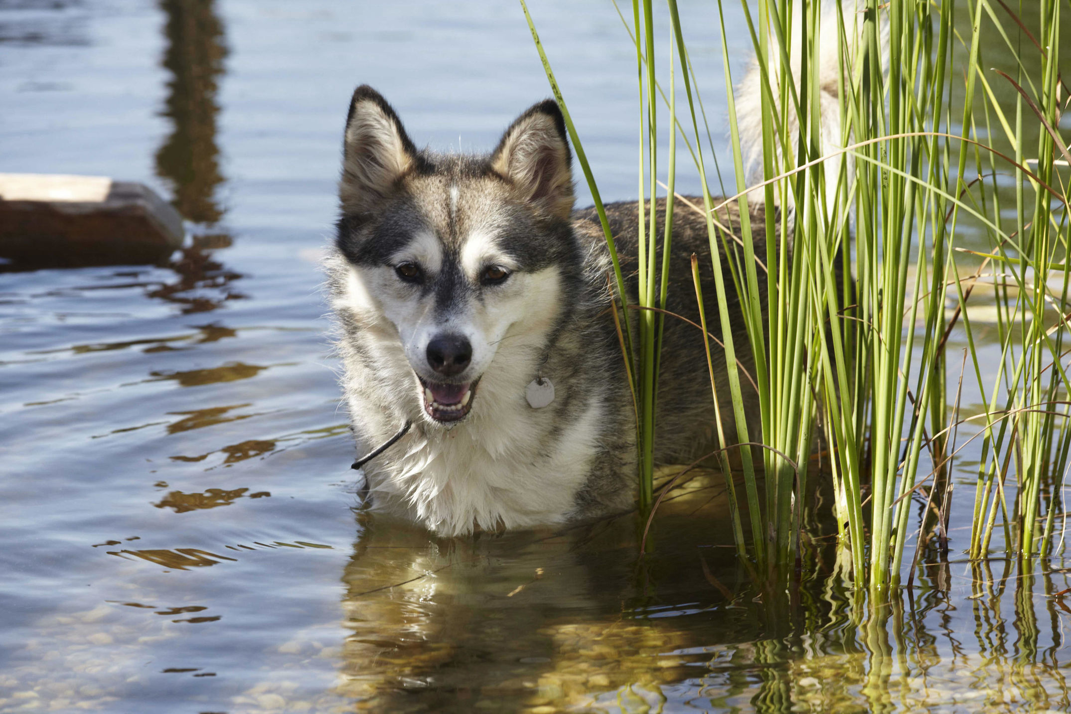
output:
{"label": "dog's pointed right-hand ear, the one nearer the reeds", "polygon": [[540,211],[568,218],[573,210],[572,154],[554,100],[532,106],[506,130],[491,167]]}

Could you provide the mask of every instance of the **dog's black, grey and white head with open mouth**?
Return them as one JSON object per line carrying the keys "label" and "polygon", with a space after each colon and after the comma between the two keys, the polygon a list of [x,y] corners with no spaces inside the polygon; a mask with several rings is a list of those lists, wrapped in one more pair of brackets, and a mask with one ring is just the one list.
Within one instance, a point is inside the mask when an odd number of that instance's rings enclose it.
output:
{"label": "dog's black, grey and white head with open mouth", "polygon": [[488,399],[523,398],[534,378],[576,262],[570,162],[549,100],[489,155],[464,156],[418,151],[379,93],[353,93],[338,192],[345,306],[404,352],[411,374],[391,389],[432,423],[465,419],[478,384]]}

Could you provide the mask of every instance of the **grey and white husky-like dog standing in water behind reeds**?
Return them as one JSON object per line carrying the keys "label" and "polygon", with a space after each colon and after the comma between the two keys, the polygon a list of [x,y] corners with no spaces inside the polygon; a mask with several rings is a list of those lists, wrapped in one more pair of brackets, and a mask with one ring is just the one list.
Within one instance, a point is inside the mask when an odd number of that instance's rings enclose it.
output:
{"label": "grey and white husky-like dog standing in water behind reeds", "polygon": [[[758,122],[759,91],[753,66],[740,88],[741,111],[752,113],[743,122]],[[835,79],[821,91],[835,93]],[[522,113],[489,154],[461,155],[418,150],[378,92],[353,92],[326,270],[352,430],[362,453],[375,449],[363,469],[377,508],[455,536],[634,506],[636,413],[610,259],[595,210],[574,210],[571,161],[550,100]],[[754,250],[765,256],[757,203]],[[659,199],[660,237],[665,210]],[[635,302],[638,206],[605,211]],[[739,227],[739,211],[729,202],[716,217]],[[699,321],[690,265],[698,254],[708,330],[720,336],[709,252],[706,218],[678,202],[666,309]],[[739,297],[726,299],[739,316]],[[754,374],[742,321],[730,326],[740,374]],[[724,434],[735,438],[725,354],[711,349]],[[660,360],[654,458],[685,462],[709,444],[714,422],[703,335],[665,318]],[[752,422],[757,393],[740,381]]]}

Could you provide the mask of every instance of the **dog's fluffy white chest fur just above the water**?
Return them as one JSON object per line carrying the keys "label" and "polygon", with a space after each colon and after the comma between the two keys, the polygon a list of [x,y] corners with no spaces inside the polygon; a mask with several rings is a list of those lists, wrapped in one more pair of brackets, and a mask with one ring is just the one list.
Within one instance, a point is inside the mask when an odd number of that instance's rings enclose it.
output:
{"label": "dog's fluffy white chest fur just above the water", "polygon": [[523,395],[489,411],[449,431],[414,424],[390,458],[365,468],[376,505],[443,535],[565,520],[595,454],[600,405],[553,447]]}

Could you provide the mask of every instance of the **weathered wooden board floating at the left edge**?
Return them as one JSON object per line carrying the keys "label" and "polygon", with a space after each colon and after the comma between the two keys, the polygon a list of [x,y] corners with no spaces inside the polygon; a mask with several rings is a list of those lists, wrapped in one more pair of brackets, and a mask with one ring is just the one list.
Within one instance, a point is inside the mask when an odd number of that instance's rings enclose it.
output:
{"label": "weathered wooden board floating at the left edge", "polygon": [[0,173],[0,258],[33,265],[144,264],[182,246],[182,217],[140,183]]}

